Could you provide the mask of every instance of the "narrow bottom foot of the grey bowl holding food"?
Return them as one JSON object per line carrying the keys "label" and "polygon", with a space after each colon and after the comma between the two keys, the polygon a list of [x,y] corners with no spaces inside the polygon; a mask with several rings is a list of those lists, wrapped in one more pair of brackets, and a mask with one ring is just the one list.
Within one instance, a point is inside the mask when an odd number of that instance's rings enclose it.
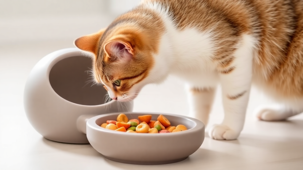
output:
{"label": "narrow bottom foot of the grey bowl holding food", "polygon": [[[104,155],[103,155],[104,156]],[[104,156],[106,159],[109,159],[111,161],[115,162],[120,162],[120,163],[125,163],[125,164],[135,164],[135,165],[163,165],[163,164],[171,164],[175,162],[180,162],[188,158],[181,158],[181,159],[174,159],[174,160],[169,160],[169,161],[158,161],[158,162],[140,162],[140,161],[126,161],[126,160],[121,160],[121,159],[115,159],[111,157]]]}

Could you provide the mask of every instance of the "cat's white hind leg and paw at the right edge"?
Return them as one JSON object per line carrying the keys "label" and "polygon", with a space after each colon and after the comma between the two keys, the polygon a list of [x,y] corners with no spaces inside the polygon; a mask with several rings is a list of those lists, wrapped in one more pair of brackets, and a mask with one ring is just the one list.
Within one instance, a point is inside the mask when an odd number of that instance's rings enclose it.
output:
{"label": "cat's white hind leg and paw at the right edge", "polygon": [[255,110],[255,115],[258,119],[264,121],[279,121],[285,120],[291,116],[302,113],[303,109],[294,110],[285,106],[261,106]]}

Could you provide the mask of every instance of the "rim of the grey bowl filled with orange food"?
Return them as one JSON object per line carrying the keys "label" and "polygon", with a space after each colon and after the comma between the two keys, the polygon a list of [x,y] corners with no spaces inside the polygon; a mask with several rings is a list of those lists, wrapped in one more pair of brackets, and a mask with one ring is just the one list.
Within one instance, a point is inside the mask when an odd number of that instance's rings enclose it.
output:
{"label": "rim of the grey bowl filled with orange food", "polygon": [[[113,114],[121,114],[121,113],[126,113],[126,112],[115,112],[115,113],[107,113],[107,114],[94,116],[94,117],[88,119],[88,121],[86,122],[86,126],[93,129],[93,130],[104,132],[104,133],[110,133],[110,134],[113,134],[113,135],[134,135],[134,136],[145,136],[145,137],[146,136],[155,137],[155,136],[159,135],[159,133],[153,133],[153,134],[151,134],[151,133],[140,133],[140,134],[138,134],[138,133],[119,132],[119,131],[114,131],[114,130],[102,128],[101,126],[98,126],[97,123],[96,123],[97,119],[100,119],[100,118],[106,117],[106,116],[111,116]],[[195,118],[191,118],[191,117],[188,117],[188,116],[183,116],[183,115],[176,115],[176,114],[171,114],[171,113],[159,113],[159,112],[127,112],[126,114],[129,114],[129,113],[130,114],[157,114],[157,115],[162,114],[164,116],[168,115],[168,116],[179,117],[179,118],[182,118],[182,119],[187,119],[187,120],[195,123],[195,126],[191,129],[188,129],[188,130],[180,132],[180,133],[165,133],[166,135],[185,135],[185,134],[188,134],[188,133],[195,133],[195,132],[200,131],[201,129],[205,128],[204,123],[201,122],[200,120],[195,119]]]}

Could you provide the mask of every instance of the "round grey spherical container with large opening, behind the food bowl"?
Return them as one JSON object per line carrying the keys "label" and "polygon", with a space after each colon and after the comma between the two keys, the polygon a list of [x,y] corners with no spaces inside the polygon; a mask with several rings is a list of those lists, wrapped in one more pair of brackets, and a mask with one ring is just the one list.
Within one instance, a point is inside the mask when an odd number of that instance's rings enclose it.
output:
{"label": "round grey spherical container with large opening, behind the food bowl", "polygon": [[67,48],[48,54],[32,69],[25,85],[24,108],[29,122],[46,139],[88,143],[79,121],[132,111],[132,101],[105,103],[106,90],[88,82],[91,68],[91,58],[77,48]]}

